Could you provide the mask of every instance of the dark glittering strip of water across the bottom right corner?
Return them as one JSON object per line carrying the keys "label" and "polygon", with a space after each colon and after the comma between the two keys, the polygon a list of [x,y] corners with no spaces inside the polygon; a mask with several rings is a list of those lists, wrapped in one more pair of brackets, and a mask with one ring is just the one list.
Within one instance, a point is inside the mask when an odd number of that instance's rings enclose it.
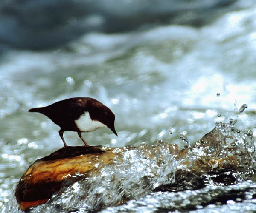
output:
{"label": "dark glittering strip of water across the bottom right corner", "polygon": [[[241,212],[241,209],[255,211],[255,203],[248,206],[246,201],[241,202],[245,199],[252,199],[255,195],[256,184],[249,181],[226,187],[205,187],[200,190],[186,190],[177,193],[151,193],[139,200],[129,201],[127,204],[119,207],[108,207],[101,212],[184,212],[195,210],[192,212],[216,213],[223,212],[221,211],[222,209],[225,209],[225,212]],[[253,199],[253,201],[255,200]],[[239,202],[240,208],[237,208],[237,203]],[[233,205],[221,206],[221,204]]]}

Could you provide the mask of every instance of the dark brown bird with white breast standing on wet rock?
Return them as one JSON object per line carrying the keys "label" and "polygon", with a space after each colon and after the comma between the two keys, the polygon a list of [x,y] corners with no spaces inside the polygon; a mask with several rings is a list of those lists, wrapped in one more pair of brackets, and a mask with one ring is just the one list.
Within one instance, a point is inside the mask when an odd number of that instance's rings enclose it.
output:
{"label": "dark brown bird with white breast standing on wet rock", "polygon": [[82,132],[91,132],[100,127],[108,127],[117,136],[115,130],[115,114],[93,98],[69,98],[53,103],[46,107],[32,108],[29,112],[39,112],[46,115],[55,124],[60,126],[59,135],[63,138],[64,131],[77,132],[84,144],[87,142],[82,137]]}

